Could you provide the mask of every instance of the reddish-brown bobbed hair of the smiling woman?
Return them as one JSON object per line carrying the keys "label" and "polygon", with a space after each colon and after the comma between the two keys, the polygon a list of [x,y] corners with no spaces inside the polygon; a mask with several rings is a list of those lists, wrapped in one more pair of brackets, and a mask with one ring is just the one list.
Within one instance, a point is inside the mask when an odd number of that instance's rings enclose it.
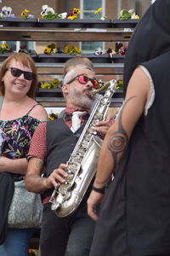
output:
{"label": "reddish-brown bobbed hair of the smiling woman", "polygon": [[5,61],[3,61],[1,70],[0,70],[0,92],[4,96],[5,93],[5,86],[3,83],[3,76],[7,72],[7,68],[10,66],[10,62],[14,60],[16,62],[22,63],[25,67],[30,67],[32,73],[34,73],[34,78],[31,82],[30,90],[27,92],[27,96],[30,96],[31,98],[36,97],[36,90],[37,90],[37,68],[35,66],[34,61],[32,60],[30,55],[27,55],[25,53],[14,53],[12,55],[9,55]]}

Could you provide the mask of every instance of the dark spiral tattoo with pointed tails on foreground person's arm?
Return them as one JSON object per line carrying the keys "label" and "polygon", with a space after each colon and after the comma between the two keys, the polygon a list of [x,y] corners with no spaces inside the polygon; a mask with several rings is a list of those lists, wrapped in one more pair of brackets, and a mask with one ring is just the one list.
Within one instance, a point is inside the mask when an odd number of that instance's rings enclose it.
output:
{"label": "dark spiral tattoo with pointed tails on foreground person's arm", "polygon": [[118,160],[118,154],[122,153],[125,148],[127,147],[127,143],[128,143],[128,136],[127,136],[127,132],[124,130],[123,126],[122,126],[122,112],[124,107],[127,105],[127,102],[129,102],[130,100],[132,100],[135,96],[130,97],[129,99],[127,99],[127,101],[124,103],[122,110],[120,112],[119,115],[119,122],[118,122],[118,131],[114,132],[108,142],[108,148],[111,151],[113,160],[114,160],[114,170],[113,172],[115,172],[116,170],[116,166],[117,166],[117,160]]}

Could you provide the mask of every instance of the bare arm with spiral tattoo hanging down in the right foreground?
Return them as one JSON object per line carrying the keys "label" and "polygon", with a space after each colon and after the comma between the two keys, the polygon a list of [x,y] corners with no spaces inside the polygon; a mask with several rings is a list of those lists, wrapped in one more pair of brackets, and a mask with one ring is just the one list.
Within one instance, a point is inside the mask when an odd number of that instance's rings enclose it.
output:
{"label": "bare arm with spiral tattoo hanging down in the right foreground", "polygon": [[[144,112],[149,93],[150,80],[144,71],[138,67],[129,81],[122,111],[105,136],[99,155],[98,171],[94,180],[95,188],[104,188],[112,173],[118,172],[119,161],[127,148],[134,126]],[[98,219],[95,208],[103,198],[103,194],[94,190],[88,198],[88,214],[94,220]]]}

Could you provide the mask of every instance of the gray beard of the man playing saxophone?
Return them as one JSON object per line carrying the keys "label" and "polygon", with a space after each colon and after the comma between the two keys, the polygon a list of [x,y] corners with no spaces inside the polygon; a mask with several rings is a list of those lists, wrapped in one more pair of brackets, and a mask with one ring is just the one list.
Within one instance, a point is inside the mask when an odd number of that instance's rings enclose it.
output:
{"label": "gray beard of the man playing saxophone", "polygon": [[70,90],[71,102],[80,108],[90,109],[94,99],[90,99],[88,95],[77,92],[77,90]]}

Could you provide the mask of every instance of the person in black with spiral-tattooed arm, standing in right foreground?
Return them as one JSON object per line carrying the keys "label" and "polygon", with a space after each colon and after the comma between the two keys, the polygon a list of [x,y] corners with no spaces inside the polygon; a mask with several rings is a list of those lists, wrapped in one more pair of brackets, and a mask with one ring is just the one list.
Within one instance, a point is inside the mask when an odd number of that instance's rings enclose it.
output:
{"label": "person in black with spiral-tattooed arm, standing in right foreground", "polygon": [[125,102],[88,198],[88,214],[98,220],[90,256],[170,255],[169,12],[169,0],[156,0],[127,49]]}

